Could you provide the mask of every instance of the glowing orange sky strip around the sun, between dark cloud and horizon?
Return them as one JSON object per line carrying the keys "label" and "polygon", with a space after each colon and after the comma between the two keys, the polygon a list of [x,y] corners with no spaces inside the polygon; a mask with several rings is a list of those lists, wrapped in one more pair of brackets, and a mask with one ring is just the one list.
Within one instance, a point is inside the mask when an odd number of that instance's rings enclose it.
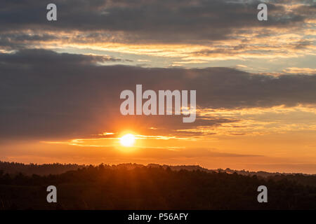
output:
{"label": "glowing orange sky strip around the sun, between dark cloud and horizon", "polygon": [[[190,136],[183,134],[188,130],[179,130],[177,135],[155,127],[148,130],[138,129],[137,126],[125,129],[123,125],[117,127],[117,131],[105,130],[85,138],[47,138],[45,141],[18,141],[18,144],[17,141],[7,142],[1,147],[1,160],[94,165],[101,162],[136,162],[144,165],[201,165],[209,169],[315,173],[316,119],[308,117],[315,118],[315,112],[308,111],[305,116],[299,117],[298,112],[277,110],[277,113],[264,109],[256,112],[246,110],[244,112],[251,113],[251,116],[260,114],[261,119],[254,120],[247,114],[241,116],[244,120],[237,124],[199,127],[195,130],[197,134]],[[264,113],[268,113],[266,118]],[[282,119],[279,118],[281,115]],[[119,138],[129,133],[135,135],[135,144],[121,146]]]}

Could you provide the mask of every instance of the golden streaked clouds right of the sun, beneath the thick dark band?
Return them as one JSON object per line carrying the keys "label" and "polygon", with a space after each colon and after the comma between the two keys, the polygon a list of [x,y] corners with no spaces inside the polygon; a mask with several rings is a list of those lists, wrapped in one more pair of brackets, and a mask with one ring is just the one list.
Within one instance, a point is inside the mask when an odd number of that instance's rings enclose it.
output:
{"label": "golden streaked clouds right of the sun, beneath the thick dark band", "polygon": [[316,131],[316,109],[312,106],[273,106],[251,109],[197,109],[199,119],[227,119],[231,122],[214,126],[199,126],[177,130],[180,133],[195,133],[207,139],[216,136],[242,136],[281,134],[286,132]]}

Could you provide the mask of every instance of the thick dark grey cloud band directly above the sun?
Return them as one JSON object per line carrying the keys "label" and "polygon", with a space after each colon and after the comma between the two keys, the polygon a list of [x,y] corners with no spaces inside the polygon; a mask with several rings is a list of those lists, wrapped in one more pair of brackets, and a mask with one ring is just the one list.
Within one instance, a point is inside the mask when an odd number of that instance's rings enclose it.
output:
{"label": "thick dark grey cloud band directly above the sun", "polygon": [[0,135],[78,137],[117,127],[166,130],[220,125],[233,120],[184,124],[180,117],[121,116],[122,90],[197,90],[197,106],[213,109],[316,103],[316,76],[265,76],[229,68],[145,69],[97,66],[102,58],[20,50],[0,54]]}

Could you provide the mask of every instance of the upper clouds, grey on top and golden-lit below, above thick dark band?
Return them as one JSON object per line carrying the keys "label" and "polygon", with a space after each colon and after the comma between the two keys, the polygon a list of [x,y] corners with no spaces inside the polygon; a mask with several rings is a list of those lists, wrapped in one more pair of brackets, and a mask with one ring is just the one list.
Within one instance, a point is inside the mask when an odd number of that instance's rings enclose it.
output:
{"label": "upper clouds, grey on top and golden-lit below, above thick dark band", "polygon": [[48,22],[44,1],[0,0],[0,51],[88,49],[190,67],[315,55],[315,3],[265,2],[268,21],[260,22],[256,0],[56,0],[58,20]]}

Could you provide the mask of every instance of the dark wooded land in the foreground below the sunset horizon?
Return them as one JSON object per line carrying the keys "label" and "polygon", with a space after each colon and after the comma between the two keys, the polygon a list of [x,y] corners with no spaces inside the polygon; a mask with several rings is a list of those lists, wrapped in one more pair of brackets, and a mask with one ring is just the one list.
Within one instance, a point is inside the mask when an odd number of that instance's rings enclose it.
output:
{"label": "dark wooded land in the foreground below the sunset horizon", "polygon": [[[57,203],[46,201],[51,185]],[[268,203],[257,201],[261,185]],[[46,176],[0,172],[0,209],[316,209],[316,176],[105,165]]]}

